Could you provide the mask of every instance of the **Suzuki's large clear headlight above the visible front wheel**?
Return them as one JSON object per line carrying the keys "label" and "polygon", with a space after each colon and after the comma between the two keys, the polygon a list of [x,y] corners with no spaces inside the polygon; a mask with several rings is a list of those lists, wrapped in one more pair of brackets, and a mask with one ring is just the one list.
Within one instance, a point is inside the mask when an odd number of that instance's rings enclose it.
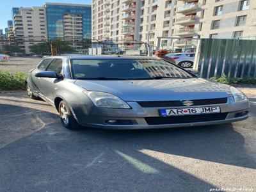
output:
{"label": "Suzuki's large clear headlight above the visible front wheel", "polygon": [[115,95],[103,92],[83,92],[100,108],[118,108],[118,109],[131,109],[131,107],[124,102],[124,100],[116,97]]}

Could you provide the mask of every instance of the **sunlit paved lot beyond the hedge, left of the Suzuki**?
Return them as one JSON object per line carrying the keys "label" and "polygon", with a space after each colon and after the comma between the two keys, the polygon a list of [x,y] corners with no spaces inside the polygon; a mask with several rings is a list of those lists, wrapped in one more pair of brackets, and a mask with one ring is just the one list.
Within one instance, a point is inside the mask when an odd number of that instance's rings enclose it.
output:
{"label": "sunlit paved lot beyond the hedge, left of the Suzuki", "polygon": [[0,62],[0,71],[28,72],[42,60],[42,58],[11,57],[10,61]]}

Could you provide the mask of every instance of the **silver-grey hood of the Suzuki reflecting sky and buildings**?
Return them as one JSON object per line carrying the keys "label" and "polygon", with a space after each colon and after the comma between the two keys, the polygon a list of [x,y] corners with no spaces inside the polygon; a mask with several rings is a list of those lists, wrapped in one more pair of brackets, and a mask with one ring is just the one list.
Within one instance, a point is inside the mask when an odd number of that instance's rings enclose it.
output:
{"label": "silver-grey hood of the Suzuki reflecting sky and buildings", "polygon": [[230,86],[200,78],[134,81],[77,80],[86,90],[111,93],[125,101],[193,100],[232,96]]}

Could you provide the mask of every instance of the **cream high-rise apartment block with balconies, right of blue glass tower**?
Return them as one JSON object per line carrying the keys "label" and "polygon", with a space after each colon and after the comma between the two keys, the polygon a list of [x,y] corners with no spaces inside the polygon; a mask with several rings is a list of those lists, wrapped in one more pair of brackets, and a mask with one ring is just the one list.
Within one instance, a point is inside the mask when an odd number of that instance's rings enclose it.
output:
{"label": "cream high-rise apartment block with balconies, right of blue glass tower", "polygon": [[163,49],[195,47],[185,38],[256,36],[254,0],[93,0],[92,38],[141,40]]}

